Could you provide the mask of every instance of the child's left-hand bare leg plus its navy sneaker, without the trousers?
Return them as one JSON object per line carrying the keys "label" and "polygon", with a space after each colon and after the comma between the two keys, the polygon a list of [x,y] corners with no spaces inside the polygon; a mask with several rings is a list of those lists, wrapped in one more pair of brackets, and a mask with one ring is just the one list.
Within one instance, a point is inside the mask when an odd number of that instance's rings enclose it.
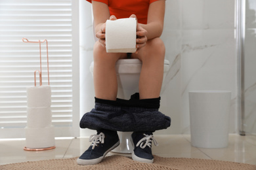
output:
{"label": "child's left-hand bare leg plus its navy sneaker, without the trousers", "polygon": [[[95,42],[93,50],[95,97],[113,100],[112,102],[116,101],[116,61],[119,58],[125,58],[125,56],[126,54],[106,53],[105,47],[99,42]],[[104,100],[100,101],[102,102]],[[103,111],[107,110],[103,109]],[[90,137],[90,140],[93,142],[91,146],[77,159],[79,165],[93,165],[99,163],[110,150],[119,145],[117,132],[102,129],[102,127],[97,131],[96,135]]]}

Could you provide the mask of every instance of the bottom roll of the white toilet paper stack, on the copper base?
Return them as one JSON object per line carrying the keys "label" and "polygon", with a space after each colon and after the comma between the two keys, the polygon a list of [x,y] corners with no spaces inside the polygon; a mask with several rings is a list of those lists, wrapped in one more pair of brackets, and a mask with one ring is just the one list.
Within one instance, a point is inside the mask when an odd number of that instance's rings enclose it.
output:
{"label": "bottom roll of the white toilet paper stack, on the copper base", "polygon": [[26,148],[48,148],[55,145],[54,127],[25,127]]}

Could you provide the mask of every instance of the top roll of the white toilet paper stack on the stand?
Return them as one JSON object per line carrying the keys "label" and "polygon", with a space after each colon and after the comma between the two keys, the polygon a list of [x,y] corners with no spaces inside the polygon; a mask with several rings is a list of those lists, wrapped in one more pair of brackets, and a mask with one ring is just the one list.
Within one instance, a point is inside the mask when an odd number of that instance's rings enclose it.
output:
{"label": "top roll of the white toilet paper stack on the stand", "polygon": [[33,86],[27,88],[28,107],[49,107],[51,106],[51,87]]}

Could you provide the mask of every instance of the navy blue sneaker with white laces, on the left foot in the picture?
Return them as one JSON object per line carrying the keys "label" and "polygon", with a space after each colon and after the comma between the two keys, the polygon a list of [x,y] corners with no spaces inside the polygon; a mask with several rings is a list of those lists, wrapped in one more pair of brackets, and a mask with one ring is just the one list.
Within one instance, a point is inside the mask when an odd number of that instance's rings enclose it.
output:
{"label": "navy blue sneaker with white laces, on the left foot in the picture", "polygon": [[91,146],[77,159],[78,165],[93,165],[119,145],[119,137],[116,131],[102,129],[96,135],[91,135]]}

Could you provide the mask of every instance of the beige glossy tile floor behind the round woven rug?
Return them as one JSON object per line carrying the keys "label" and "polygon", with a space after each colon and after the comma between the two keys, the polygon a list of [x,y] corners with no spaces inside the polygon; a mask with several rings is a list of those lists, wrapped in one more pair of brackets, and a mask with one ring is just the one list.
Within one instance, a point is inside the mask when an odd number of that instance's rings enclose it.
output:
{"label": "beige glossy tile floor behind the round woven rug", "polygon": [[[190,144],[190,135],[156,135],[159,146],[153,154],[163,157],[200,158],[235,161],[256,165],[256,135],[229,135],[226,148],[195,148]],[[80,156],[91,143],[89,138],[56,138],[56,148],[47,151],[25,151],[25,139],[0,139],[0,165],[22,161],[73,158]],[[108,155],[114,154],[113,152]],[[123,154],[131,156],[129,154]]]}

